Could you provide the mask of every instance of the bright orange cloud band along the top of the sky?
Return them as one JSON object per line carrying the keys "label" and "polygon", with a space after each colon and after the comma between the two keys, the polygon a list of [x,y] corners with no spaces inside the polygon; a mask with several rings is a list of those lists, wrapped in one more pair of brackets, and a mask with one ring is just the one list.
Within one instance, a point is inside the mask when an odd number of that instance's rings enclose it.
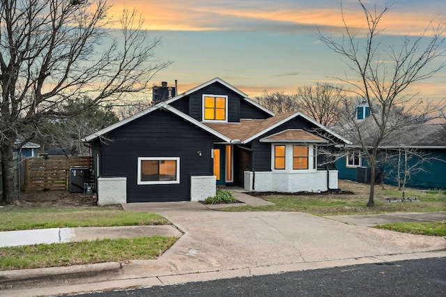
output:
{"label": "bright orange cloud band along the top of the sky", "polygon": [[[177,31],[247,30],[252,31],[270,26],[280,30],[281,26],[320,26],[341,29],[341,10],[337,5],[329,8],[237,8],[217,6],[212,1],[137,1],[116,0],[110,13],[117,17],[124,7],[136,8],[146,20],[147,29]],[[344,8],[344,16],[351,28],[364,27],[364,13],[359,6]],[[432,12],[389,10],[381,20],[380,27],[387,34],[419,35],[433,20]],[[252,22],[252,23],[250,23]],[[434,20],[434,23],[435,20]],[[262,24],[260,26],[260,24]]]}

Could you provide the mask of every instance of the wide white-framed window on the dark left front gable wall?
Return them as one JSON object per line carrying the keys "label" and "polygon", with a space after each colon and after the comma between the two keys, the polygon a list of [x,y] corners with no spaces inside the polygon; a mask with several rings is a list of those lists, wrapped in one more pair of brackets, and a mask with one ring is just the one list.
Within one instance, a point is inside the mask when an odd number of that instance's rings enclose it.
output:
{"label": "wide white-framed window on the dark left front gable wall", "polygon": [[180,183],[180,158],[138,158],[138,185]]}

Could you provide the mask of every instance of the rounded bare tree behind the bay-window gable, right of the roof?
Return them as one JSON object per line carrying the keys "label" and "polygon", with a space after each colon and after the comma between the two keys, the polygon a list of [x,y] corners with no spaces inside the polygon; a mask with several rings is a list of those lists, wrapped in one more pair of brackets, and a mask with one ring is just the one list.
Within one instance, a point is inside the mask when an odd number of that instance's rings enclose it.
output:
{"label": "rounded bare tree behind the bay-window gable, right of the roof", "polygon": [[339,121],[339,107],[346,100],[346,92],[331,84],[301,86],[298,88],[295,105],[298,110],[322,125]]}

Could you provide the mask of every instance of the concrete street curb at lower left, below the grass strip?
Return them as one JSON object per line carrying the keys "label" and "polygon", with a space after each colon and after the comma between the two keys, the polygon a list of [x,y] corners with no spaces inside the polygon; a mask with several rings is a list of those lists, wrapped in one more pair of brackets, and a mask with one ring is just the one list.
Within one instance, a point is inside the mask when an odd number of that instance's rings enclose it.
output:
{"label": "concrete street curb at lower left, below the grass strip", "polygon": [[122,273],[118,262],[0,271],[0,290],[107,280]]}

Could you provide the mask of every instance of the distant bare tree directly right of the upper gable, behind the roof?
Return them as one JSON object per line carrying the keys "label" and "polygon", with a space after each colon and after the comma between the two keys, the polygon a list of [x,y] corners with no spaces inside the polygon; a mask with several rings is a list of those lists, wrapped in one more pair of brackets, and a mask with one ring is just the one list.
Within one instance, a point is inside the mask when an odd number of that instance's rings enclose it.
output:
{"label": "distant bare tree directly right of the upper gable, behind the roof", "polygon": [[262,96],[254,98],[256,102],[270,109],[275,114],[297,111],[296,96],[288,95],[284,92],[268,93],[264,91]]}

